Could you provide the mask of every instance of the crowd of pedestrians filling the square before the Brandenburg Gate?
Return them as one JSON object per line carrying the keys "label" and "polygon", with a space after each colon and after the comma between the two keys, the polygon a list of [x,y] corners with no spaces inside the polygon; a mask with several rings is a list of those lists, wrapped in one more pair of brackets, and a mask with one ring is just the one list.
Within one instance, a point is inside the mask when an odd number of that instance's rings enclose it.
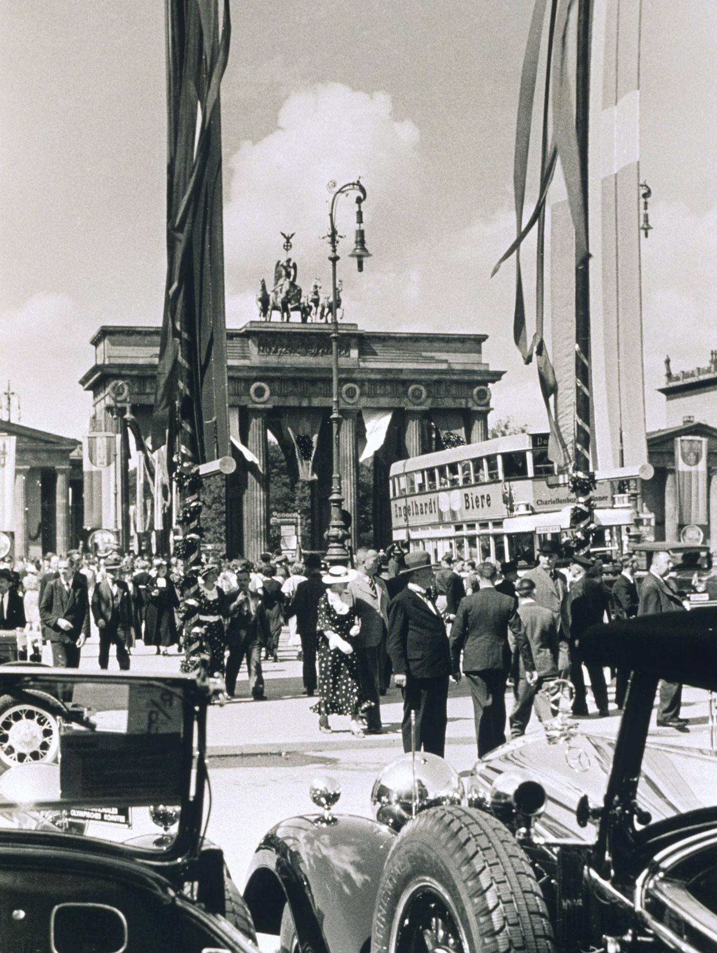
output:
{"label": "crowd of pedestrians filling the square before the Brandenburg Gate", "polygon": [[[537,564],[519,578],[515,563],[445,556],[436,569],[419,550],[362,548],[356,568],[328,567],[318,553],[289,564],[280,554],[210,559],[202,564],[193,608],[180,615],[181,567],[166,558],[96,558],[71,552],[0,564],[0,630],[22,632],[20,659],[77,668],[95,630],[98,664],[111,653],[131,666],[135,640],[163,655],[209,656],[230,698],[246,666],[249,693],[266,700],[262,664],[277,662],[282,627],[302,663],[303,693],[318,695],[321,732],[347,716],[357,737],[382,732],[380,700],[392,673],[403,696],[402,735],[410,750],[441,755],[449,682],[462,678],[473,701],[479,756],[524,734],[533,710],[555,717],[559,679],[573,686],[572,714],[588,715],[585,672],[597,716],[608,714],[601,666],[584,665],[580,640],[610,618],[683,611],[668,578],[668,554],[656,554],[640,595],[635,558],[623,558],[611,590],[602,564],[579,554],[561,559],[545,540]],[[91,628],[91,625],[93,628]],[[615,704],[625,703],[629,672],[618,669]],[[513,696],[506,717],[506,695]],[[686,731],[682,687],[663,682],[658,724]],[[412,729],[412,713],[414,728]]]}

